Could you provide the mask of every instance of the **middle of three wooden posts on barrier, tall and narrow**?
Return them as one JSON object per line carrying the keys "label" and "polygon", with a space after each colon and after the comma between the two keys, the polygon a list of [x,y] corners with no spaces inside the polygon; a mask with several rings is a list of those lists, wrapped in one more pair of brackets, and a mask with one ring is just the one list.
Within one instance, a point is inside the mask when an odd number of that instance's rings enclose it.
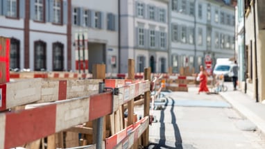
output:
{"label": "middle of three wooden posts on barrier, tall and narrow", "polygon": [[[128,79],[135,79],[135,60],[128,60]],[[134,113],[134,100],[130,100],[128,102],[128,125],[132,125],[133,121],[133,113]]]}

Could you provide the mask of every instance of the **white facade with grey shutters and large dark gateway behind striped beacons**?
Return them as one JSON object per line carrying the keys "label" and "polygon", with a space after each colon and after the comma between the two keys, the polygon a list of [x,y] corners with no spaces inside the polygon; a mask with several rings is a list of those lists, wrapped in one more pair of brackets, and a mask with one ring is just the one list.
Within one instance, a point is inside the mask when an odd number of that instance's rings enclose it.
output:
{"label": "white facade with grey shutters and large dark gateway behind striped beacons", "polygon": [[71,40],[74,49],[72,60],[75,62],[73,67],[85,72],[89,69],[91,73],[93,64],[105,64],[107,73],[117,73],[118,0],[74,0],[71,3]]}

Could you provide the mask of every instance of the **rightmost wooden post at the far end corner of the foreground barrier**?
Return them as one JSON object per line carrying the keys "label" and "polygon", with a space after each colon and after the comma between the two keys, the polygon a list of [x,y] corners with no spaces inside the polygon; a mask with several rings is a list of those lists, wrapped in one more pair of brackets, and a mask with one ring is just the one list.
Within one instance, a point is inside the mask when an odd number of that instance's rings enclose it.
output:
{"label": "rightmost wooden post at the far end corner of the foreground barrier", "polygon": [[[145,68],[144,69],[144,80],[150,80],[151,81],[151,68]],[[149,116],[150,112],[150,98],[151,98],[151,91],[146,91],[144,93],[144,117]],[[146,130],[143,133],[143,145],[144,147],[148,146],[149,144],[149,126],[146,128]]]}

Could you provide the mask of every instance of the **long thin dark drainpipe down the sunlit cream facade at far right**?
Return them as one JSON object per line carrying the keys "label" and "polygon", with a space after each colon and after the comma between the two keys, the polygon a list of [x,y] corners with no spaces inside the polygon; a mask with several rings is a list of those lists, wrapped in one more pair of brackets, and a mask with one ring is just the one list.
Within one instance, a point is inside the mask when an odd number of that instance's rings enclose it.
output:
{"label": "long thin dark drainpipe down the sunlit cream facade at far right", "polygon": [[255,0],[253,0],[253,15],[254,15],[254,39],[255,39],[255,80],[256,80],[256,102],[259,102],[259,85],[257,79],[257,33],[256,33],[256,8]]}

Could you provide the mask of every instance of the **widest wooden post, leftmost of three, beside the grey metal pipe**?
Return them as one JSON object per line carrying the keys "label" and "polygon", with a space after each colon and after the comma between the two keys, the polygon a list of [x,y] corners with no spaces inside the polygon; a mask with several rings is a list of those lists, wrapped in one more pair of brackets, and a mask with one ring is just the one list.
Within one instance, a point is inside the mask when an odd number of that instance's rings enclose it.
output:
{"label": "widest wooden post, leftmost of three, beside the grey metal pipe", "polygon": [[[105,79],[105,64],[94,64],[93,65],[93,79]],[[96,130],[98,126],[97,119],[93,122],[93,143],[96,143]],[[105,139],[105,117],[103,118],[103,139]]]}

